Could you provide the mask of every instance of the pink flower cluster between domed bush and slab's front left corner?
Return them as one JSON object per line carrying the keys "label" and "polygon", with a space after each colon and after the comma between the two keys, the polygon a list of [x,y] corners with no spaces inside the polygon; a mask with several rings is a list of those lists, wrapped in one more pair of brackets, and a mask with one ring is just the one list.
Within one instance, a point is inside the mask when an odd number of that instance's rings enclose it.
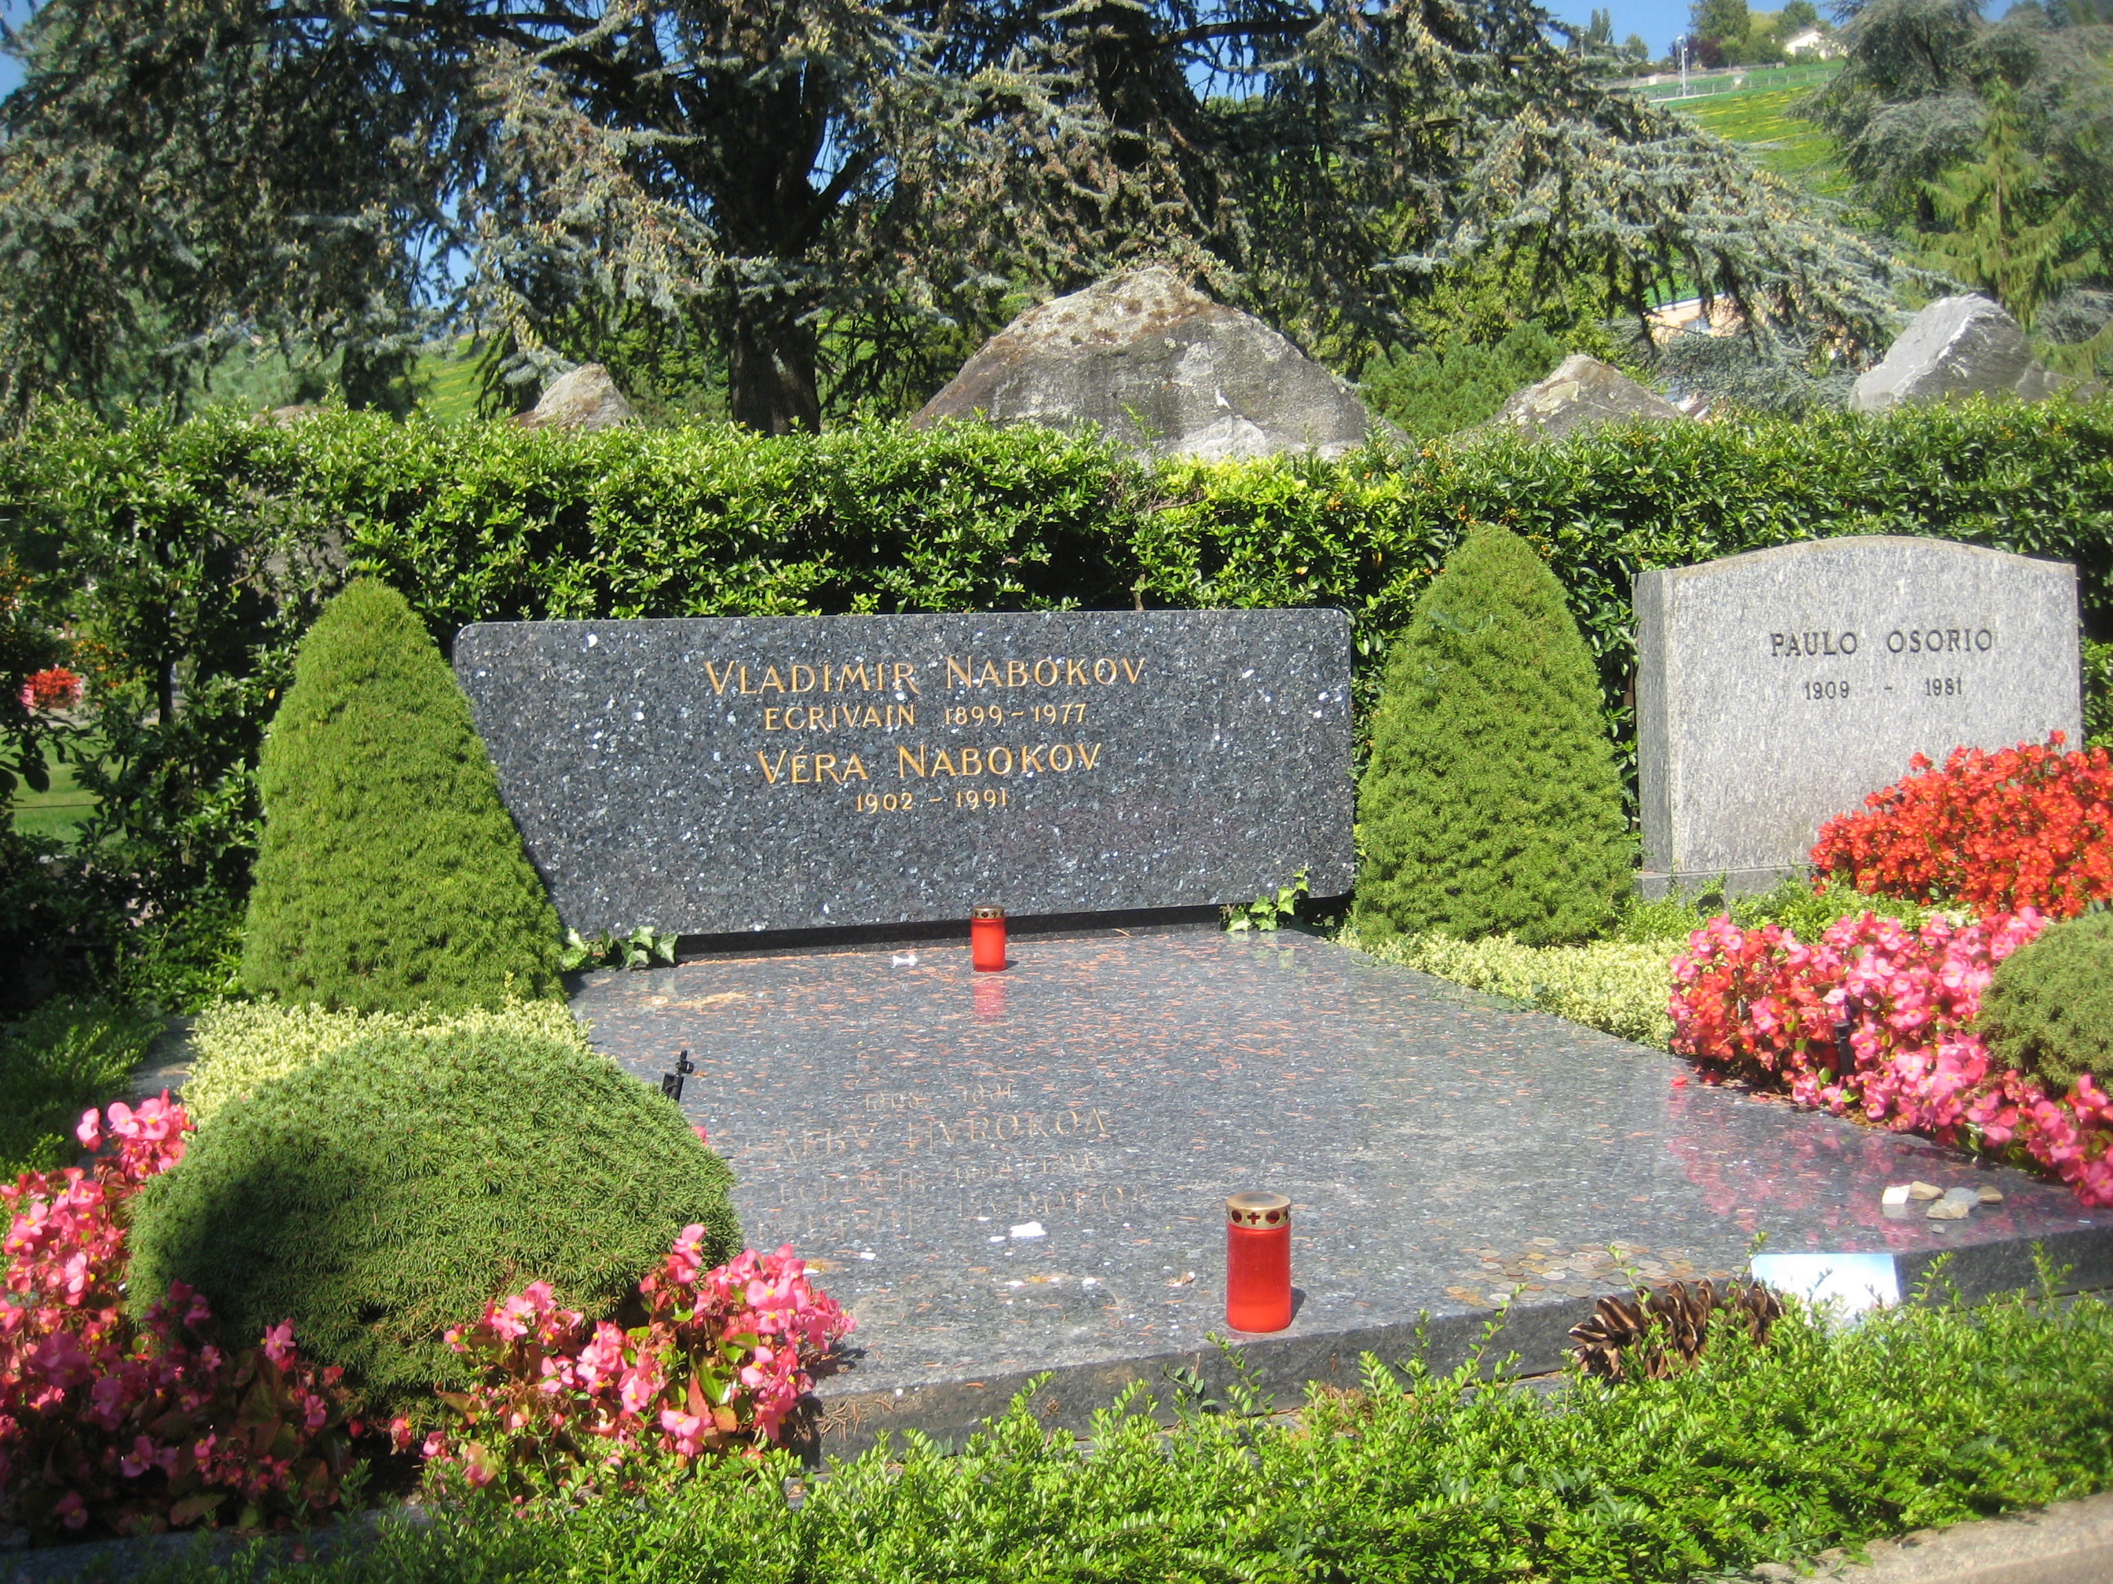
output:
{"label": "pink flower cluster between domed bush and slab's front left corner", "polygon": [[[687,1462],[778,1440],[814,1383],[809,1369],[849,1335],[852,1316],[809,1286],[790,1246],[704,1269],[702,1240],[704,1227],[685,1227],[661,1269],[638,1284],[647,1324],[632,1331],[600,1320],[590,1333],[547,1282],[448,1331],[448,1345],[482,1379],[471,1392],[442,1392],[461,1423],[425,1438],[427,1459],[461,1462],[471,1485],[501,1481],[526,1495],[573,1483],[587,1464],[621,1464],[630,1451]],[[410,1447],[408,1419],[391,1432]]]}

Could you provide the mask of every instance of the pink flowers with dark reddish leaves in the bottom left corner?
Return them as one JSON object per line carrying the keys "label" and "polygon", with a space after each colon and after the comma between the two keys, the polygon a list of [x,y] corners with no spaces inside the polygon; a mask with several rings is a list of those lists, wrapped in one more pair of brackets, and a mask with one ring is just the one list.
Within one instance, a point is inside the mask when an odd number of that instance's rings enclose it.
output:
{"label": "pink flowers with dark reddish leaves in the bottom left corner", "polygon": [[125,1316],[120,1206],[182,1159],[188,1128],[167,1094],[89,1111],[80,1143],[114,1143],[93,1176],[70,1166],[0,1187],[13,1217],[0,1244],[0,1523],[44,1538],[89,1523],[256,1527],[336,1500],[338,1371],[300,1364],[292,1322],[228,1356],[180,1282],[139,1322]]}

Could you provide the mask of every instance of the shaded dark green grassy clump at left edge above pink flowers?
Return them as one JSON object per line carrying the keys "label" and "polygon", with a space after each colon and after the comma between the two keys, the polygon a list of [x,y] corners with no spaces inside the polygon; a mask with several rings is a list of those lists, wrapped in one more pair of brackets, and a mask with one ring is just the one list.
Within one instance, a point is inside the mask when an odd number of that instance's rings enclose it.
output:
{"label": "shaded dark green grassy clump at left edge above pink flowers", "polygon": [[125,1088],[161,1018],[108,1001],[46,1001],[0,1033],[0,1183],[80,1153],[74,1124]]}

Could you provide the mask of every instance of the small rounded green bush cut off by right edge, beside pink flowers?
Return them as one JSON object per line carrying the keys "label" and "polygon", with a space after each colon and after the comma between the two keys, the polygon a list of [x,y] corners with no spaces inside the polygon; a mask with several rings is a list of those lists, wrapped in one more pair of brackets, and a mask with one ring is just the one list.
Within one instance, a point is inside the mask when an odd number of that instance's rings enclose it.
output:
{"label": "small rounded green bush cut off by right edge, beside pink flowers", "polygon": [[1995,965],[1976,1031],[2003,1067],[2067,1094],[2113,1079],[2113,912],[2047,925]]}

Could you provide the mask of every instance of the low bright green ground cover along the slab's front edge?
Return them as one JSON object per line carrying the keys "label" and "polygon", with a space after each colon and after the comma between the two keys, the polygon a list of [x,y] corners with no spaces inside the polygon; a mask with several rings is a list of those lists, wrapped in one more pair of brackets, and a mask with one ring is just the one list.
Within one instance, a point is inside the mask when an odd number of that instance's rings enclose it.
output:
{"label": "low bright green ground cover along the slab's front edge", "polygon": [[1297,1423],[1190,1400],[1173,1434],[1133,1394],[1086,1449],[1023,1396],[955,1455],[896,1436],[797,1508],[797,1464],[769,1455],[649,1500],[463,1502],[359,1554],[182,1578],[1671,1582],[2113,1483],[2113,1318],[2092,1297],[1919,1301],[1853,1328],[1792,1305],[1766,1347],[1728,1326],[1669,1379],[1574,1375],[1553,1398],[1466,1390],[1477,1369],[1367,1360]]}

